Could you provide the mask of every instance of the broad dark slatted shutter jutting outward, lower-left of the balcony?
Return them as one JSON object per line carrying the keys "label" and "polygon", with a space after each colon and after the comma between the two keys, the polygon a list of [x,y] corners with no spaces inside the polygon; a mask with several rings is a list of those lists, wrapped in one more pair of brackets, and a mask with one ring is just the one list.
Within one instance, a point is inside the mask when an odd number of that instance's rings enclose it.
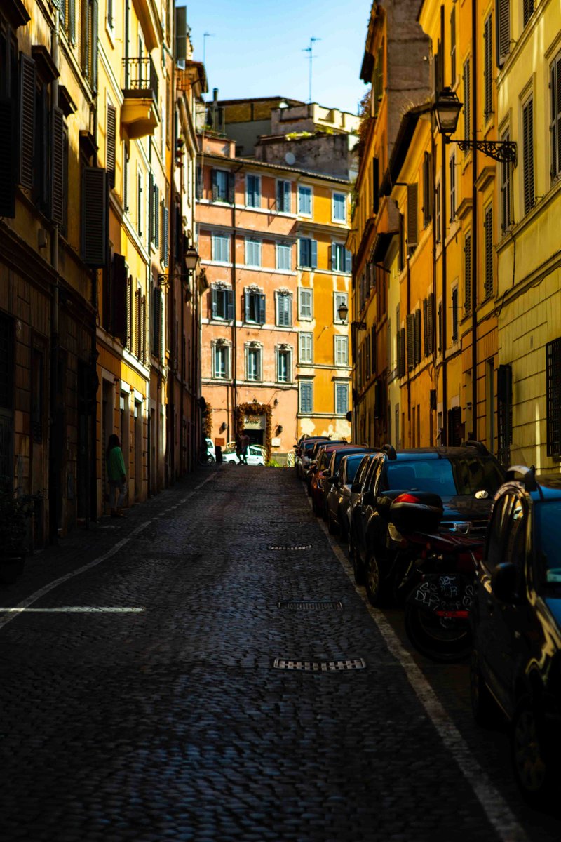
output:
{"label": "broad dark slatted shutter jutting outward, lower-left of the balcony", "polygon": [[108,247],[107,173],[98,167],[82,172],[82,259],[87,266],[104,266]]}

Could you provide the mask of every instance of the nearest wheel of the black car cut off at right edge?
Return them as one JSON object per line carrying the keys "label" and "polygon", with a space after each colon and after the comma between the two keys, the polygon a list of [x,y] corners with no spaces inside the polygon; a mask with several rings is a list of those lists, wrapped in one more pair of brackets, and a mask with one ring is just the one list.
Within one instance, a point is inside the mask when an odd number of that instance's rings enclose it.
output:
{"label": "nearest wheel of the black car cut off at right edge", "polygon": [[530,698],[522,699],[511,723],[511,759],[516,783],[532,807],[553,805],[559,781],[543,717]]}

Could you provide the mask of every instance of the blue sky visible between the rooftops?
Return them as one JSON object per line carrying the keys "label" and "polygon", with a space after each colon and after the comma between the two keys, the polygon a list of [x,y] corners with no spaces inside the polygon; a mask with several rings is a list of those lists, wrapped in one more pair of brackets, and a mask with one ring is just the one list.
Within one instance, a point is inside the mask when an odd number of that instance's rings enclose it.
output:
{"label": "blue sky visible between the rooftops", "polygon": [[[284,96],[357,113],[367,87],[358,78],[371,0],[177,0],[187,6],[194,58],[203,61],[209,93],[220,99]],[[212,37],[204,39],[204,33]],[[204,41],[206,50],[204,51]]]}

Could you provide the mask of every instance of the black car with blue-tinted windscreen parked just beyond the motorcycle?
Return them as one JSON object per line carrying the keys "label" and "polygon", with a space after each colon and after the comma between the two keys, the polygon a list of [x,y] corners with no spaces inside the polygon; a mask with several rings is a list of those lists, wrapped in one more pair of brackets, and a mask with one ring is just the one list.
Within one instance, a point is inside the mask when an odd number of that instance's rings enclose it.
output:
{"label": "black car with blue-tinted windscreen parked just beyond the motorcycle", "polygon": [[401,536],[388,520],[388,498],[404,492],[437,494],[444,509],[441,530],[484,536],[504,478],[499,462],[480,442],[398,452],[384,445],[373,456],[352,509],[355,578],[366,586],[368,600],[378,605],[393,584]]}

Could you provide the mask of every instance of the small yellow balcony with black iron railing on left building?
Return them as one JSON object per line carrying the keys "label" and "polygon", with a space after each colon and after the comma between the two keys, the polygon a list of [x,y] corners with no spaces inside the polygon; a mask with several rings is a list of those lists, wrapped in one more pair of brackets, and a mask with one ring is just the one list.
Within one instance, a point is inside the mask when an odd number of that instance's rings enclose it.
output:
{"label": "small yellow balcony with black iron railing on left building", "polygon": [[153,135],[160,125],[158,77],[150,56],[123,59],[121,123],[130,138]]}

